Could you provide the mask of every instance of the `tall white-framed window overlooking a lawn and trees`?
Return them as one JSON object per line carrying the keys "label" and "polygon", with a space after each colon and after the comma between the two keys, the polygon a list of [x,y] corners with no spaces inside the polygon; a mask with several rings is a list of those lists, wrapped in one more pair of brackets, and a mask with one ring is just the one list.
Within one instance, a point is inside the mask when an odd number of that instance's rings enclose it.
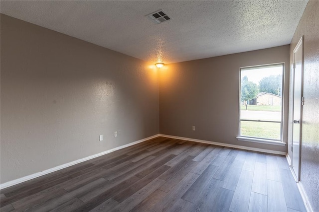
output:
{"label": "tall white-framed window overlooking a lawn and trees", "polygon": [[238,140],[282,141],[284,64],[241,68]]}

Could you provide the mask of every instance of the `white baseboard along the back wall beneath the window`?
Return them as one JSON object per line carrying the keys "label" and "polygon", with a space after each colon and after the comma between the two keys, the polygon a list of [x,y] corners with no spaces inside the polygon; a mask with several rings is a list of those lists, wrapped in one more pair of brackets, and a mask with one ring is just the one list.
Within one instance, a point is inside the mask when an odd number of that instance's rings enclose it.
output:
{"label": "white baseboard along the back wall beneath the window", "polygon": [[178,137],[178,136],[169,136],[169,135],[163,135],[163,134],[160,134],[159,136],[171,138],[171,139],[180,139],[180,140],[194,141],[194,142],[200,142],[200,143],[208,143],[208,144],[213,144],[213,145],[218,145],[218,146],[232,147],[232,148],[245,149],[245,150],[251,150],[251,151],[259,151],[259,152],[265,152],[265,153],[271,153],[271,154],[286,155],[286,152],[284,152],[284,151],[275,151],[275,150],[269,150],[269,149],[234,145],[234,144],[229,144],[229,143],[219,143],[219,142],[214,142],[214,141],[204,141],[204,140],[199,140],[199,139],[190,139],[190,138],[184,138],[184,137]]}

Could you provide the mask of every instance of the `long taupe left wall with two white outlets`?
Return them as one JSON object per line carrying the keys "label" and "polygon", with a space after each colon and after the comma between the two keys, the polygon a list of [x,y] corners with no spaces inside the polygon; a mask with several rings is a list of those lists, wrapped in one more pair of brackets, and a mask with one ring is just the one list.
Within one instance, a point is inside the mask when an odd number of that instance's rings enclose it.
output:
{"label": "long taupe left wall with two white outlets", "polygon": [[1,14],[0,182],[158,134],[149,65]]}

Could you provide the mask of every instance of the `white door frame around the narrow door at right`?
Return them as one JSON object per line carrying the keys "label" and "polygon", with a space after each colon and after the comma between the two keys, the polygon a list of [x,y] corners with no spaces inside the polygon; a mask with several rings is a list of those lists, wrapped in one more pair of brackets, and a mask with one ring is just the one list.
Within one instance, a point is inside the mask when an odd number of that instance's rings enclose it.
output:
{"label": "white door frame around the narrow door at right", "polygon": [[[296,174],[295,173],[295,170],[293,169],[293,151],[292,151],[292,156],[291,156],[291,168],[292,168],[292,173],[294,175],[294,178],[296,180],[296,182],[299,182],[300,181],[300,168],[301,168],[301,147],[302,147],[302,123],[303,123],[303,98],[304,98],[304,36],[301,36],[300,40],[298,41],[294,51],[293,51],[293,106],[292,106],[292,111],[293,111],[293,114],[292,114],[292,121],[294,121],[294,97],[295,97],[295,69],[296,69],[296,64],[295,64],[295,53],[297,52],[297,50],[299,48],[302,48],[302,66],[301,66],[301,97],[302,99],[300,100],[301,101],[301,107],[300,107],[300,135],[299,135],[299,159],[298,159],[298,173]],[[291,131],[291,135],[292,135],[292,148],[294,146],[294,123],[292,123],[293,126],[292,126],[292,131]],[[296,162],[296,161],[295,161]]]}

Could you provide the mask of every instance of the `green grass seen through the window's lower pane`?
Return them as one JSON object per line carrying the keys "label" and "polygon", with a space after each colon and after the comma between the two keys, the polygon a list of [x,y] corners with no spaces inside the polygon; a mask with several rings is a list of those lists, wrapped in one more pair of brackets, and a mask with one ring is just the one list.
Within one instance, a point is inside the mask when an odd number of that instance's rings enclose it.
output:
{"label": "green grass seen through the window's lower pane", "polygon": [[280,123],[241,121],[241,136],[280,140]]}

